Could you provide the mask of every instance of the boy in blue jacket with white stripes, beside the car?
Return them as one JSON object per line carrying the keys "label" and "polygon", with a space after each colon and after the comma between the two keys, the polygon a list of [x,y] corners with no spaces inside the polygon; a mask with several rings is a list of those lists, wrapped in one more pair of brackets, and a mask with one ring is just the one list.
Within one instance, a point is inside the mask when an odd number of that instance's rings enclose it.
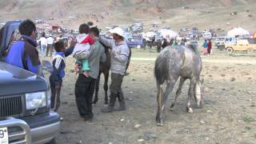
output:
{"label": "boy in blue jacket with white stripes, beside the car", "polygon": [[65,76],[65,44],[63,41],[54,43],[56,51],[53,59],[53,72],[50,74],[51,98],[50,106],[54,111],[58,110],[60,105],[60,95],[62,87],[62,78]]}

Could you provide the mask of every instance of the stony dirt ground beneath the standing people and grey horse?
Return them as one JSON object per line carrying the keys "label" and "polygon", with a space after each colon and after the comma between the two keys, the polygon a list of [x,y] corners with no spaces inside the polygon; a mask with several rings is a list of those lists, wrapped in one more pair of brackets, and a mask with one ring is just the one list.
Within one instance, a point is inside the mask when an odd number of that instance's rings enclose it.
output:
{"label": "stony dirt ground beneath the standing people and grey horse", "polygon": [[[155,122],[157,102],[153,70],[157,55],[156,52],[133,50],[130,74],[122,84],[128,106],[126,111],[102,114],[101,81],[99,102],[93,106],[94,119],[90,124],[79,117],[74,99],[74,83],[78,75],[74,74],[74,59],[66,58],[62,105],[58,111],[64,120],[57,143],[256,143],[255,55],[229,56],[214,49],[213,55],[202,56],[205,88],[202,109],[197,109],[194,103],[194,113],[186,113],[187,81],[175,110],[166,110],[164,126],[157,126]],[[177,86],[178,82],[166,108],[173,102]],[[140,127],[135,128],[135,125]]]}

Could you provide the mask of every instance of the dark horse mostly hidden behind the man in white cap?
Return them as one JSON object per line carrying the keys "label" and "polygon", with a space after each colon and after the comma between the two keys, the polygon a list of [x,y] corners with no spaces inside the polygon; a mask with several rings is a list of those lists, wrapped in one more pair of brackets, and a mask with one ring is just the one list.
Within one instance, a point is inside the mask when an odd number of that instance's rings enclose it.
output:
{"label": "dark horse mostly hidden behind the man in white cap", "polygon": [[[102,46],[104,46],[104,45],[102,44]],[[96,84],[95,84],[95,96],[94,96],[94,102],[93,102],[94,104],[96,104],[98,102],[98,90],[99,90],[99,82],[100,82],[101,74],[104,74],[104,86],[103,86],[104,91],[105,91],[104,104],[108,104],[107,90],[108,90],[108,80],[109,80],[110,65],[111,65],[111,55],[110,55],[111,48],[108,46],[104,46],[104,47],[105,47],[105,54],[106,54],[106,62],[101,62],[99,65],[98,79],[96,80]],[[130,54],[128,57],[128,62],[126,64],[126,70],[130,64],[130,57],[131,57],[131,50],[130,50]],[[118,101],[120,101],[120,100],[118,99]]]}

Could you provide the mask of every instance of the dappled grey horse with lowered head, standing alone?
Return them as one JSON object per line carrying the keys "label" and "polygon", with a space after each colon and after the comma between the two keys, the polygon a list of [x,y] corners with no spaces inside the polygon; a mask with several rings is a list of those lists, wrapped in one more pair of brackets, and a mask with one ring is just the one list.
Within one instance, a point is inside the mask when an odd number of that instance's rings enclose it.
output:
{"label": "dappled grey horse with lowered head, standing alone", "polygon": [[[154,65],[154,75],[157,81],[157,101],[158,111],[156,122],[158,126],[163,126],[164,110],[168,95],[174,88],[175,82],[180,77],[180,83],[171,105],[173,110],[178,95],[181,94],[182,86],[187,78],[190,79],[190,88],[187,99],[186,110],[193,113],[191,99],[194,96],[198,107],[202,106],[202,81],[200,73],[202,70],[202,60],[195,46],[167,46],[161,51]],[[166,91],[163,93],[162,85],[166,82]]]}

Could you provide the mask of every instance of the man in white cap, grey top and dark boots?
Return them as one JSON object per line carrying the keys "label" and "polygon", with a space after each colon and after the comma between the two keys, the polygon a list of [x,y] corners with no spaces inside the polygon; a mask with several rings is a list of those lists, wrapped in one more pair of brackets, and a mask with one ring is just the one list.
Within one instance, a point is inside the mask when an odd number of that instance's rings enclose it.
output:
{"label": "man in white cap, grey top and dark boots", "polygon": [[113,39],[99,38],[106,46],[110,46],[111,50],[111,84],[110,84],[110,104],[102,112],[112,112],[116,98],[119,101],[118,110],[126,110],[125,98],[122,94],[122,78],[126,74],[126,65],[129,62],[130,50],[124,39],[124,31],[120,27],[110,30]]}

